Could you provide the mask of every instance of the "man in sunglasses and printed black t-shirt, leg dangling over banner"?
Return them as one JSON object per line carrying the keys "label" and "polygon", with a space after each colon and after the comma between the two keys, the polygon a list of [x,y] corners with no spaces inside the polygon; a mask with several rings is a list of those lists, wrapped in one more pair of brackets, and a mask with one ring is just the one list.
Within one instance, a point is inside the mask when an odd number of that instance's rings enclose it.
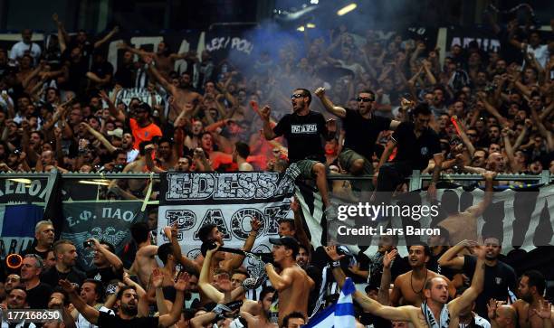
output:
{"label": "man in sunglasses and printed black t-shirt, leg dangling over banner", "polygon": [[300,176],[316,180],[321,201],[325,205],[325,214],[335,217],[330,208],[325,169],[323,138],[330,139],[332,133],[325,126],[325,118],[310,110],[311,93],[307,89],[295,89],[291,96],[292,114],[281,118],[275,127],[270,123],[271,108],[265,106],[258,113],[263,121],[263,136],[272,140],[284,136],[289,147],[289,161],[298,166]]}

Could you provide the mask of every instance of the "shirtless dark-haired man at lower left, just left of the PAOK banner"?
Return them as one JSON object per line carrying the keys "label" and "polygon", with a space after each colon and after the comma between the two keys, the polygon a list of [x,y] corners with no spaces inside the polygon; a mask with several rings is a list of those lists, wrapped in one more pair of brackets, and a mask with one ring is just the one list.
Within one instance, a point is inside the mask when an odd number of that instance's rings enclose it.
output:
{"label": "shirtless dark-haired man at lower left, just left of the PAOK banner", "polygon": [[137,243],[137,255],[135,261],[130,267],[130,271],[139,276],[141,286],[148,286],[148,281],[152,275],[152,270],[158,267],[156,254],[158,246],[151,245],[150,231],[146,222],[138,222],[131,226],[131,236]]}

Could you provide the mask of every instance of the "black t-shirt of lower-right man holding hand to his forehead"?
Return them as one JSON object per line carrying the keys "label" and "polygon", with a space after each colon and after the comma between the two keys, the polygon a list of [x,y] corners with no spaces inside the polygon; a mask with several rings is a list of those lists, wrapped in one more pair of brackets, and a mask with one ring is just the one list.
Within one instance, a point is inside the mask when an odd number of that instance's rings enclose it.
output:
{"label": "black t-shirt of lower-right man holding hand to his forehead", "polygon": [[[473,279],[477,258],[466,255],[463,257],[463,273]],[[513,267],[498,261],[494,267],[485,266],[484,289],[475,300],[475,312],[483,318],[487,317],[487,303],[491,298],[506,301],[509,293],[515,293],[517,276]]]}

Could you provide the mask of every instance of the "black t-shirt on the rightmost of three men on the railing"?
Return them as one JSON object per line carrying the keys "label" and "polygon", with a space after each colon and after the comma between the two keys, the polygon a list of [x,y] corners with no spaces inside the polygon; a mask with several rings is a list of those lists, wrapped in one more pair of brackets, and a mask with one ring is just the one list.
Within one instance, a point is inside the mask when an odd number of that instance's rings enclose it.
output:
{"label": "black t-shirt on the rightmost of three men on the railing", "polygon": [[416,137],[414,123],[402,122],[392,137],[397,148],[395,162],[410,162],[414,170],[425,169],[433,155],[441,153],[439,137],[431,128]]}

